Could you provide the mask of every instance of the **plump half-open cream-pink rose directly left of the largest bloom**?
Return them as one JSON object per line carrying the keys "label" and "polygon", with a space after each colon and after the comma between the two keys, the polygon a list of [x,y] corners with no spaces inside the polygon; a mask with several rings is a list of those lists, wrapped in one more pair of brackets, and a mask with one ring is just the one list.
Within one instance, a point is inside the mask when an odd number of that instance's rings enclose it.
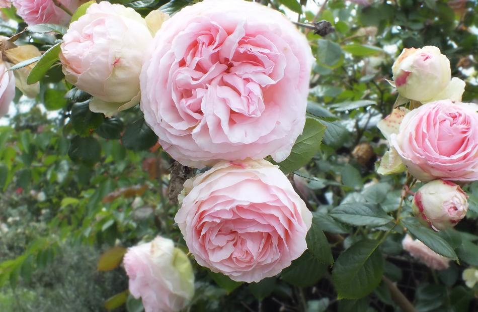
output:
{"label": "plump half-open cream-pink rose directly left of the largest bloom", "polygon": [[139,103],[139,73],[152,35],[138,13],[109,2],[93,4],[63,40],[63,73],[94,96],[91,111],[112,116]]}

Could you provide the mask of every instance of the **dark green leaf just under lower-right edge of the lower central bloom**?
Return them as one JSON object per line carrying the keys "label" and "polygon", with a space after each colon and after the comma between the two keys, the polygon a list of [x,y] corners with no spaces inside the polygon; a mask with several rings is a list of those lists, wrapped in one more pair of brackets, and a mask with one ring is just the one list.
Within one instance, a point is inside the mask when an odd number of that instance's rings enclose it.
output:
{"label": "dark green leaf just under lower-right edge of the lower central bloom", "polygon": [[327,264],[317,261],[308,250],[282,270],[281,278],[297,287],[315,284],[327,271]]}

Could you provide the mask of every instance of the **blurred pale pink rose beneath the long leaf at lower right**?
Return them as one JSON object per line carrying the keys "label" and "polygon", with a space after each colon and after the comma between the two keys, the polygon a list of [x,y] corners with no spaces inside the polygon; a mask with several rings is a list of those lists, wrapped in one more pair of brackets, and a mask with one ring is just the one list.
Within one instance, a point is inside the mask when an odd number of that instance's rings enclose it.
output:
{"label": "blurred pale pink rose beneath the long leaf at lower right", "polygon": [[449,266],[450,259],[437,254],[421,241],[412,239],[408,234],[402,241],[402,246],[412,257],[423,262],[429,268],[445,270]]}

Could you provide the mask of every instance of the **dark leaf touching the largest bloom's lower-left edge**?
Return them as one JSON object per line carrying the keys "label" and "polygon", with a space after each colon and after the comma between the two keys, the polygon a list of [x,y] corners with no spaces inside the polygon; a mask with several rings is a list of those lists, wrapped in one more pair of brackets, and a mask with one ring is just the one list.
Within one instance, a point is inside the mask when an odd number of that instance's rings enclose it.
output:
{"label": "dark leaf touching the largest bloom's lower-left edge", "polygon": [[127,149],[138,151],[154,146],[157,137],[141,117],[126,127],[121,140]]}

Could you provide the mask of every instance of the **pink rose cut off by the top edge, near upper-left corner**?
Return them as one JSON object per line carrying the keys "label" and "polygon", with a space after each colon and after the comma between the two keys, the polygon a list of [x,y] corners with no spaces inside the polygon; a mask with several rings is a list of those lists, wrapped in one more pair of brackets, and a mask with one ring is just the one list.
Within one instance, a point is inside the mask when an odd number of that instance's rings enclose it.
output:
{"label": "pink rose cut off by the top edge, near upper-left corner", "polygon": [[[63,6],[71,12],[76,9],[85,0],[58,0]],[[55,6],[53,0],[12,0],[17,14],[29,25],[36,24],[60,24],[68,25],[71,19],[65,11]]]}

